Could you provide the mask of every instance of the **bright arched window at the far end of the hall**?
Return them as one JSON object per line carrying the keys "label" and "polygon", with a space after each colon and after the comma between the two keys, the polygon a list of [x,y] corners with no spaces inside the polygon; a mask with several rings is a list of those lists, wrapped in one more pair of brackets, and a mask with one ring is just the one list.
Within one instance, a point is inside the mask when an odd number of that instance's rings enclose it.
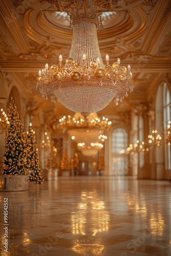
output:
{"label": "bright arched window at the far end of the hall", "polygon": [[127,148],[127,133],[122,128],[117,128],[112,133],[112,169],[114,175],[126,175],[128,158],[122,154]]}

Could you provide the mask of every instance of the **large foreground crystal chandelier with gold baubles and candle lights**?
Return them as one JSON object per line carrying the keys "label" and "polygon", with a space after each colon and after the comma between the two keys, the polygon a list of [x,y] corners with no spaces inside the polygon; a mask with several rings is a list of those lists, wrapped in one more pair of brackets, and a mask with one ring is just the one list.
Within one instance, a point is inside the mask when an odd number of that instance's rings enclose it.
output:
{"label": "large foreground crystal chandelier with gold baubles and candle lights", "polygon": [[[83,2],[83,10],[80,7]],[[85,4],[86,3],[86,4]],[[36,89],[42,97],[52,102],[55,98],[67,109],[81,113],[84,118],[107,106],[113,98],[115,104],[128,96],[134,89],[131,67],[120,65],[120,59],[110,66],[109,55],[103,65],[97,29],[101,25],[100,13],[95,10],[92,1],[79,1],[77,10],[68,13],[73,25],[73,39],[69,58],[62,63],[59,55],[57,65],[39,70]]]}

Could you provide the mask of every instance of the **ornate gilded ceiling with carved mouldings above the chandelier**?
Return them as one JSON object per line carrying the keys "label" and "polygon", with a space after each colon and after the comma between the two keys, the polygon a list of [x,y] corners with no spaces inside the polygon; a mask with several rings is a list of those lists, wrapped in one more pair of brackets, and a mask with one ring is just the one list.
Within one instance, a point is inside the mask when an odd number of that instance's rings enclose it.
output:
{"label": "ornate gilded ceiling with carved mouldings above the chandelier", "polygon": [[[103,60],[108,53],[111,64],[119,57],[130,64],[135,90],[122,105],[113,102],[101,114],[128,110],[133,99],[146,100],[149,89],[161,77],[170,79],[171,1],[170,0],[94,0],[102,14],[103,30],[98,35]],[[0,2],[0,66],[8,80],[17,81],[40,103],[35,91],[38,70],[58,62],[59,54],[69,56],[72,29],[66,11],[76,9],[77,0],[2,0]],[[70,113],[60,103],[44,103],[57,114]]]}

